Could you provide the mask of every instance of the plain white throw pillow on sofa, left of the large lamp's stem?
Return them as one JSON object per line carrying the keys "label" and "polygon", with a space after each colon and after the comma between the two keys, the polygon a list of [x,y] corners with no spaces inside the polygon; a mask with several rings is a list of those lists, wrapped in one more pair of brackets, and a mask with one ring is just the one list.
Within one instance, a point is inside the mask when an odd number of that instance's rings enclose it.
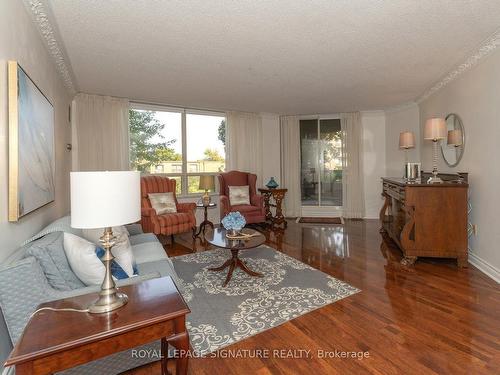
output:
{"label": "plain white throw pillow on sofa, left of the large lamp's stem", "polygon": [[95,253],[95,245],[74,234],[64,232],[64,252],[75,275],[85,285],[100,285],[106,268]]}

